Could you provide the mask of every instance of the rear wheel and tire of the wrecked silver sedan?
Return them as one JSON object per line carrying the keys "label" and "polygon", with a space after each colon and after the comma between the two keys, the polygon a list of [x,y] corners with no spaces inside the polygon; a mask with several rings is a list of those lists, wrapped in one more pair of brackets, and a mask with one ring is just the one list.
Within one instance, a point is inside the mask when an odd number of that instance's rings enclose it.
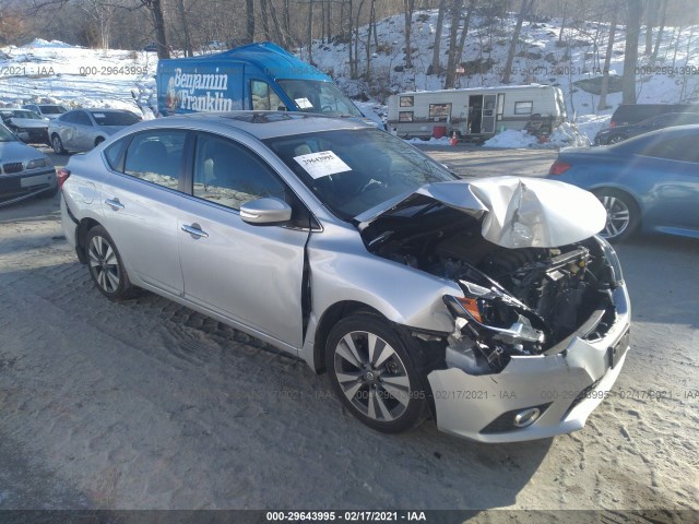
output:
{"label": "rear wheel and tire of the wrecked silver sedan", "polygon": [[109,300],[132,298],[135,288],[129,282],[121,255],[114,240],[102,226],[95,226],[85,236],[87,267],[97,289]]}

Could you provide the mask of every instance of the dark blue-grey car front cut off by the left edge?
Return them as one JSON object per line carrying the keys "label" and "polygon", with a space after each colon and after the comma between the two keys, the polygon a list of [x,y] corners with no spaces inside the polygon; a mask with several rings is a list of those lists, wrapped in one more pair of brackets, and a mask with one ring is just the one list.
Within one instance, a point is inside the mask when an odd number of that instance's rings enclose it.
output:
{"label": "dark blue-grey car front cut off by the left edge", "polygon": [[56,170],[40,151],[23,144],[0,124],[0,205],[58,192]]}

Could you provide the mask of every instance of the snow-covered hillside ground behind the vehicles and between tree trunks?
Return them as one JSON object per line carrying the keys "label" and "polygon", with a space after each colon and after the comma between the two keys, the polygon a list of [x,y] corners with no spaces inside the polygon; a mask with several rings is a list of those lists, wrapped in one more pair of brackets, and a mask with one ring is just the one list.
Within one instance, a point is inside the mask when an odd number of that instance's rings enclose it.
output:
{"label": "snow-covered hillside ground behind the vehicles and between tree trunks", "polygon": [[[418,11],[413,16],[411,47],[412,69],[404,68],[404,17],[398,14],[377,23],[379,46],[371,47],[369,76],[366,76],[367,26],[359,28],[357,46],[358,79],[350,76],[348,44],[317,40],[311,52],[307,48],[297,55],[329,73],[340,87],[355,99],[365,112],[384,112],[382,103],[389,94],[405,91],[442,88],[443,75],[427,74],[433,57],[437,11]],[[474,16],[460,62],[457,87],[497,86],[501,84],[513,16],[494,27]],[[447,63],[449,16],[441,36],[441,66]],[[638,103],[680,103],[699,99],[698,27],[666,27],[657,61],[651,74],[637,75]],[[608,26],[587,23],[583,27],[566,28],[559,41],[560,21],[524,22],[519,52],[514,59],[511,85],[540,83],[559,86],[565,94],[569,119],[589,138],[609,119],[621,102],[620,93],[607,95],[608,109],[597,110],[599,96],[576,86],[576,82],[600,76]],[[371,38],[374,40],[374,37]],[[616,32],[611,74],[624,72],[624,27]],[[596,41],[596,45],[595,45]],[[603,45],[604,44],[604,45]],[[23,47],[0,49],[0,102],[21,105],[46,100],[67,106],[114,107],[138,110],[145,118],[155,103],[157,58],[154,52],[96,50],[70,46],[60,41],[36,39]],[[648,58],[640,57],[639,72],[647,72]],[[476,67],[477,66],[477,67]],[[673,67],[673,69],[671,69]],[[648,68],[650,69],[650,68]],[[559,144],[571,135],[569,129],[559,133]],[[529,138],[521,144],[526,146]]]}

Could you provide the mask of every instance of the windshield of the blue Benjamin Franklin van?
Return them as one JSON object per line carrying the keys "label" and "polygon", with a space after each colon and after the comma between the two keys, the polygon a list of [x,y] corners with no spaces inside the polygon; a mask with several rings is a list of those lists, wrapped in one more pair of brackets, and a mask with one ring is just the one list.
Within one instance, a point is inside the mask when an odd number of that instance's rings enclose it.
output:
{"label": "windshield of the blue Benjamin Franklin van", "polygon": [[362,117],[350,98],[331,82],[319,80],[279,80],[286,95],[299,111],[323,112],[341,117]]}

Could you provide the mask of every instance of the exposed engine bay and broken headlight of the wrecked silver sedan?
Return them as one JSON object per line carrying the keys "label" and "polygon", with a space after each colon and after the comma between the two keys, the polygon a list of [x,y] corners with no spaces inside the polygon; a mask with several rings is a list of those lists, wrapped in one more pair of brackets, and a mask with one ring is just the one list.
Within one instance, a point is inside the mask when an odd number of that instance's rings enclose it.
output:
{"label": "exposed engine bay and broken headlight of the wrecked silver sedan", "polygon": [[457,319],[449,346],[474,374],[500,371],[512,355],[546,353],[595,312],[606,311],[599,323],[614,322],[614,272],[594,237],[502,248],[483,238],[478,216],[435,203],[415,216],[383,216],[363,238],[379,257],[459,284],[463,298],[445,297]]}

